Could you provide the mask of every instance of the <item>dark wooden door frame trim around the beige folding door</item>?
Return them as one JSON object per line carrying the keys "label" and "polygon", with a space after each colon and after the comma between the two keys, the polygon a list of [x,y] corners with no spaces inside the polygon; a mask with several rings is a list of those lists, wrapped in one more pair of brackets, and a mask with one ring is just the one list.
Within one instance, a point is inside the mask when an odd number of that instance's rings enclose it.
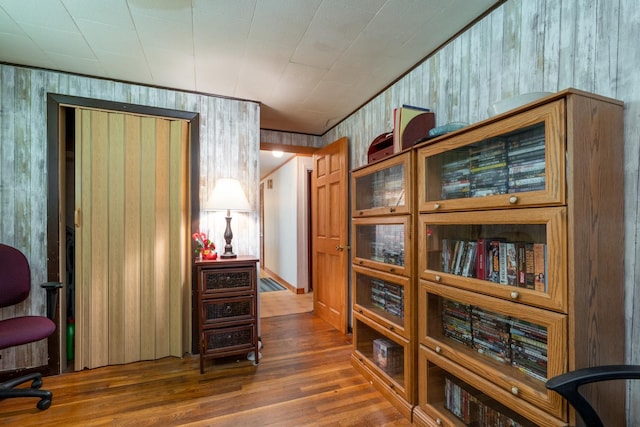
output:
{"label": "dark wooden door frame trim around the beige folding door", "polygon": [[[200,113],[192,111],[172,110],[147,105],[128,104],[124,102],[105,101],[57,93],[47,93],[47,281],[60,282],[60,154],[64,154],[60,144],[60,108],[95,108],[120,113],[132,113],[171,119],[185,120],[189,123],[189,181],[191,232],[195,233],[200,222],[200,195],[196,185],[200,176]],[[192,280],[192,295],[196,295],[195,281]],[[58,299],[60,296],[58,297]],[[198,352],[197,301],[192,298],[192,352]],[[58,305],[59,307],[59,305]],[[56,331],[48,340],[49,365],[48,374],[61,373],[60,342],[62,331],[61,316],[57,316]],[[194,323],[195,322],[195,323]],[[194,354],[195,354],[194,353]]]}

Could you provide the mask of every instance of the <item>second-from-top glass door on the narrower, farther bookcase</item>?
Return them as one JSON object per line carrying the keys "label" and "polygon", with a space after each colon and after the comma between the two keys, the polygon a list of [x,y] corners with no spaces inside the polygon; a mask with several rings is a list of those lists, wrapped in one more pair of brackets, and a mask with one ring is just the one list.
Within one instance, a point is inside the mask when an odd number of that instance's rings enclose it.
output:
{"label": "second-from-top glass door on the narrower, farther bookcase", "polygon": [[393,274],[411,274],[410,217],[353,220],[353,264]]}

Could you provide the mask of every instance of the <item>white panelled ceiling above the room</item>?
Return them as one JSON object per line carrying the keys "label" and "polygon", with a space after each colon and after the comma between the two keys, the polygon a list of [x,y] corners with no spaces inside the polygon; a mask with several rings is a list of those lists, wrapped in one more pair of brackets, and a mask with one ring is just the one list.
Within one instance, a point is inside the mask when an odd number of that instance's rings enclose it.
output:
{"label": "white panelled ceiling above the room", "polygon": [[321,135],[499,0],[0,0],[0,62],[258,101]]}

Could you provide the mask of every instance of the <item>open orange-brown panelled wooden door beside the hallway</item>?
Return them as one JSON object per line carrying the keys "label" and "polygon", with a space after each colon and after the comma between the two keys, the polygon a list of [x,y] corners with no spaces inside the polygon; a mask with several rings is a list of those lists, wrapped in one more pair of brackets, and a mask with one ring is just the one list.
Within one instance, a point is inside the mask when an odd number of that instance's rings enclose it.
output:
{"label": "open orange-brown panelled wooden door beside the hallway", "polygon": [[348,139],[341,138],[313,155],[312,286],[315,314],[347,332]]}

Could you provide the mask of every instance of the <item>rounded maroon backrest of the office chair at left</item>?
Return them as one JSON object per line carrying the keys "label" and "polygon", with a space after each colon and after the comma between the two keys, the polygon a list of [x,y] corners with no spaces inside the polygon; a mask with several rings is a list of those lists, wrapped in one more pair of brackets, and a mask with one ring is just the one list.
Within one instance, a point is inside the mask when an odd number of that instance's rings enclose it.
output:
{"label": "rounded maroon backrest of the office chair at left", "polygon": [[0,243],[0,307],[24,301],[31,290],[27,257],[18,249]]}

